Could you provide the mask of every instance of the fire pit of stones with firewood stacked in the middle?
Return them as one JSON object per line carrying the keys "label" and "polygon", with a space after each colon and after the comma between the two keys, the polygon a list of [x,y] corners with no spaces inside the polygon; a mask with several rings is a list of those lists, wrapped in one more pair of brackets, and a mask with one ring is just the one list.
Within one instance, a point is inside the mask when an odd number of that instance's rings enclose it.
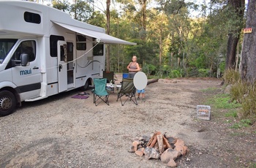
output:
{"label": "fire pit of stones with firewood stacked in the middle", "polygon": [[167,167],[176,167],[175,160],[189,151],[183,140],[167,137],[156,131],[152,137],[143,136],[132,142],[129,153],[145,156],[146,159],[161,159]]}

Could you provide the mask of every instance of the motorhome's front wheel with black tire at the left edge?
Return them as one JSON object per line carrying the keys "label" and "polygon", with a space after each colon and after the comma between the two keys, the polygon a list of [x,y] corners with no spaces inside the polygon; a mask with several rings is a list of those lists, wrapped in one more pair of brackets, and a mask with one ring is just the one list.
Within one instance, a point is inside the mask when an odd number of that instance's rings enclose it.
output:
{"label": "motorhome's front wheel with black tire at the left edge", "polygon": [[16,99],[10,91],[0,91],[0,115],[10,115],[15,111]]}

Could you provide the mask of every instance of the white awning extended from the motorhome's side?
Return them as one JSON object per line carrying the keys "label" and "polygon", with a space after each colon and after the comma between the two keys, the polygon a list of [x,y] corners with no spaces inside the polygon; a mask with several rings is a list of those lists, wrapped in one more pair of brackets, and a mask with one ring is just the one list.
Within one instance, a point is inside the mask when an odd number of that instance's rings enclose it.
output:
{"label": "white awning extended from the motorhome's side", "polygon": [[86,36],[89,36],[89,37],[94,37],[94,38],[97,39],[97,42],[103,42],[103,43],[106,43],[106,44],[137,45],[134,42],[127,42],[123,39],[118,39],[116,37],[111,37],[110,35],[99,32],[99,31],[91,31],[91,30],[86,29],[86,28],[71,26],[71,25],[67,25],[65,23],[59,23],[59,22],[56,22],[56,21],[53,21],[53,20],[52,20],[52,22],[56,23],[57,25],[59,25],[61,27],[67,28],[71,31],[75,31],[75,32],[78,32],[80,34],[83,34],[83,35],[86,35]]}

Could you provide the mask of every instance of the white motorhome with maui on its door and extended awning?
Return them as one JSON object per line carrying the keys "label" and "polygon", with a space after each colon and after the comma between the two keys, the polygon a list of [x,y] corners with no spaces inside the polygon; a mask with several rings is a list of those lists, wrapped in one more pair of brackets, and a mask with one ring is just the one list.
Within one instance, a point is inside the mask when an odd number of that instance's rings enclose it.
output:
{"label": "white motorhome with maui on its door and extended awning", "polygon": [[136,45],[29,1],[0,1],[0,115],[21,102],[88,88],[105,69],[105,44]]}

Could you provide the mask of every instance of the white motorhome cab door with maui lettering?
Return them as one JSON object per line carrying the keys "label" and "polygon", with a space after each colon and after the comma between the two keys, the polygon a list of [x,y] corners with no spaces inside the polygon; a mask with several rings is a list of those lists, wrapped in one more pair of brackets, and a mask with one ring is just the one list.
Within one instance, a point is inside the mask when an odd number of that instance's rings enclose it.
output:
{"label": "white motorhome cab door with maui lettering", "polygon": [[[28,63],[22,62],[28,56]],[[31,99],[39,96],[42,75],[40,72],[39,48],[37,39],[21,39],[12,52],[7,69],[12,71],[12,82],[17,86],[20,99]]]}

